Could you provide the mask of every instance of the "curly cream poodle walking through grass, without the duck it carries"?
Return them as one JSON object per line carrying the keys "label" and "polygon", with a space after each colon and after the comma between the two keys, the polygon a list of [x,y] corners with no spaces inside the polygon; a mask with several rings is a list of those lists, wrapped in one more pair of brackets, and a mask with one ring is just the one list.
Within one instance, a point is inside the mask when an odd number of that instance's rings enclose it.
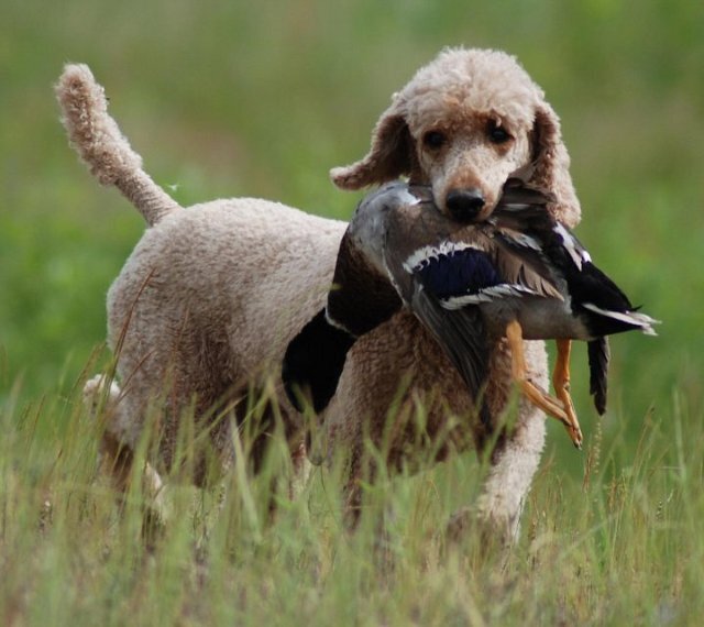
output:
{"label": "curly cream poodle walking through grass, without the duck it carries", "polygon": [[[324,302],[345,223],[248,198],[184,209],[144,173],[86,66],[67,66],[57,95],[74,147],[148,226],[108,294],[121,391],[109,399],[107,441],[135,447],[147,418],[156,416],[152,462],[170,469],[180,421],[195,414],[209,446],[190,479],[202,484],[209,452],[223,468],[232,462],[232,427],[250,416],[252,392],[273,389],[257,415],[255,470],[276,426],[298,459],[302,420],[283,394],[280,362]],[[472,219],[491,213],[506,178],[531,163],[534,183],[557,198],[550,210],[574,226],[580,208],[569,158],[540,88],[504,53],[448,50],[394,96],[370,154],[333,169],[332,178],[356,189],[408,176],[430,184],[444,211]],[[546,387],[542,342],[526,342],[526,356],[532,381]],[[510,394],[509,360],[499,342],[486,391],[497,433],[491,465],[479,503],[453,520],[455,530],[474,522],[506,540],[517,534],[543,447],[544,416],[520,400],[506,427]],[[477,422],[459,374],[413,315],[403,311],[363,337],[324,416],[329,451],[344,452],[349,461],[348,512],[361,505],[360,482],[375,475],[378,455],[367,454],[369,444],[396,469],[424,454],[442,460],[472,446],[482,452],[488,444]]]}

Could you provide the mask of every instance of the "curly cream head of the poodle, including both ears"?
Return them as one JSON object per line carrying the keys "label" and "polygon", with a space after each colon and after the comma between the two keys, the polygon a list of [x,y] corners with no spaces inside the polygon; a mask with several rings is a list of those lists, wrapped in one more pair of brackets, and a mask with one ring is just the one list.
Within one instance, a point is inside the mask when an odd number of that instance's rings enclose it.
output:
{"label": "curly cream head of the poodle, including both ears", "polygon": [[407,176],[430,185],[448,216],[491,216],[506,179],[532,164],[528,183],[550,191],[549,210],[574,226],[580,205],[560,121],[516,59],[483,50],[447,50],[422,67],[380,118],[369,154],[332,169],[343,189]]}

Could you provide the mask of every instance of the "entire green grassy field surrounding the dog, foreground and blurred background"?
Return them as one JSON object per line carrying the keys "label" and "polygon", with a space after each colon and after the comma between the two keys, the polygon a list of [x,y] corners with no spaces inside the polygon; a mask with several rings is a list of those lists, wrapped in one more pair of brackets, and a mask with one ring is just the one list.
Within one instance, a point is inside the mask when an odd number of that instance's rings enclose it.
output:
{"label": "entire green grassy field surrounding the dog, foreground and blurred background", "polygon": [[[174,490],[140,540],[95,481],[80,406],[109,360],[105,295],[144,224],[68,148],[52,85],[88,63],[146,169],[182,204],[257,196],[346,218],[328,169],[446,45],[516,54],[562,118],[601,267],[662,320],[614,338],[609,411],[584,346],[586,446],[559,425],[513,553],[437,534],[472,454],[382,482],[344,534],[334,473],[266,524],[266,482]],[[644,0],[4,0],[0,6],[0,624],[698,625],[704,612],[704,4]],[[459,487],[461,486],[461,493]],[[369,520],[366,521],[366,519]]]}

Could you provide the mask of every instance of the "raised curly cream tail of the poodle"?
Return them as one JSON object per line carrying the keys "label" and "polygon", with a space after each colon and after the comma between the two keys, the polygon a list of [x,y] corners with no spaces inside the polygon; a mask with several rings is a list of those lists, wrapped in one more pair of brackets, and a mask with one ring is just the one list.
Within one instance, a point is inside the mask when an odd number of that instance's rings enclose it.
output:
{"label": "raised curly cream tail of the poodle", "polygon": [[105,90],[87,65],[66,65],[55,90],[68,141],[102,185],[122,191],[150,227],[182,208],[142,169],[142,157],[108,113]]}

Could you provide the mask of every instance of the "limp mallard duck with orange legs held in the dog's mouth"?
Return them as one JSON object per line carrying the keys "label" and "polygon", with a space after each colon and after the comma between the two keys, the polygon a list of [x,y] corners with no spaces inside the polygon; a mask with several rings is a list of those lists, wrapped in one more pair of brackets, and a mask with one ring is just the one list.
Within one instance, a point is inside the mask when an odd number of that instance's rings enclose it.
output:
{"label": "limp mallard duck with orange legs held in the dog's mouth", "polygon": [[[600,271],[572,232],[547,211],[548,194],[510,178],[485,222],[442,215],[429,188],[392,183],[358,207],[342,239],[327,306],[292,341],[283,378],[302,409],[300,391],[320,413],[334,394],[354,341],[408,307],[482,397],[490,346],[506,338],[520,392],[561,420],[580,448],[582,431],[570,397],[571,340],[588,342],[590,392],[606,409],[606,337],[628,330],[654,334]],[[556,397],[526,375],[522,340],[557,340]],[[485,426],[491,416],[477,407]]]}

